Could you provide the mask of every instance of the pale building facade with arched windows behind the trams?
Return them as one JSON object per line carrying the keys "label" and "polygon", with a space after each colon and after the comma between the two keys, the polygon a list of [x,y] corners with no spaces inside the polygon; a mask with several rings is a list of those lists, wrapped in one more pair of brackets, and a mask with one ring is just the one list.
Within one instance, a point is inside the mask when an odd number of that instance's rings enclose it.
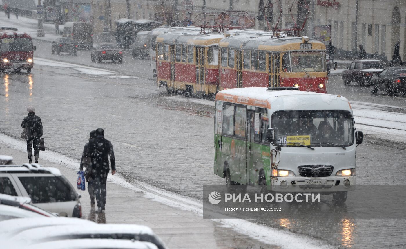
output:
{"label": "pale building facade with arched windows behind the trams", "polygon": [[[298,14],[299,9],[300,13],[309,13],[304,31],[300,34],[322,38],[326,43],[331,40],[338,49],[339,57],[353,57],[359,45],[363,45],[369,57],[391,60],[393,47],[400,40],[400,54],[406,58],[406,0],[281,0],[276,1],[276,4],[271,4],[272,1],[269,0],[91,2],[96,32],[102,32],[103,26],[114,30],[114,20],[120,18],[182,23],[185,19],[193,19],[199,13],[227,10],[246,11],[254,17],[259,16],[256,19],[257,29],[268,28],[265,18],[261,18],[264,12],[268,15],[271,29],[276,23],[279,28],[292,28],[295,21],[301,22],[304,19],[301,16],[303,14]],[[267,7],[265,11],[262,6]],[[289,13],[291,8],[292,13]]]}

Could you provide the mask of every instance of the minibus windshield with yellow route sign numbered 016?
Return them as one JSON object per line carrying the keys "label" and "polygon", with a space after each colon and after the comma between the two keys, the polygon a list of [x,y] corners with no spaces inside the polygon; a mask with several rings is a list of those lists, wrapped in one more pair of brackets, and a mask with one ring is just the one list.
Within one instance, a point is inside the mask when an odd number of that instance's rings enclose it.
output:
{"label": "minibus windshield with yellow route sign numbered 016", "polygon": [[277,111],[272,114],[271,126],[275,143],[280,147],[336,147],[354,143],[352,115],[345,110]]}

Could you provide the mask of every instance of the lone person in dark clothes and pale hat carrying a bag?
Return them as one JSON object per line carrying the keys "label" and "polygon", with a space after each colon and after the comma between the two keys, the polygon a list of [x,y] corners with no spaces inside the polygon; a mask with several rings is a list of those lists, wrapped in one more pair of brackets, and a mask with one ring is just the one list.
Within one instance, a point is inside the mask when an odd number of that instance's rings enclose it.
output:
{"label": "lone person in dark clothes and pale hat carrying a bag", "polygon": [[32,146],[34,147],[35,163],[38,163],[39,150],[41,147],[42,121],[35,115],[35,108],[28,106],[28,116],[24,117],[21,123],[22,128],[26,128],[28,162],[32,163]]}

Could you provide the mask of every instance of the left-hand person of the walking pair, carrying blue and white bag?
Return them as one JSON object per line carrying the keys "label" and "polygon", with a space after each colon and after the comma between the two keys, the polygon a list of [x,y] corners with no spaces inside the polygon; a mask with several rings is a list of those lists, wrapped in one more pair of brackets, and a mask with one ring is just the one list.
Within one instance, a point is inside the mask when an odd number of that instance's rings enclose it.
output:
{"label": "left-hand person of the walking pair, carrying blue and white bag", "polygon": [[90,206],[95,207],[95,188],[93,186],[92,166],[91,166],[91,153],[89,152],[89,144],[93,143],[93,140],[97,137],[95,130],[90,132],[89,143],[86,143],[83,148],[82,159],[80,160],[79,170],[84,168],[84,177],[87,181],[87,191],[90,196]]}

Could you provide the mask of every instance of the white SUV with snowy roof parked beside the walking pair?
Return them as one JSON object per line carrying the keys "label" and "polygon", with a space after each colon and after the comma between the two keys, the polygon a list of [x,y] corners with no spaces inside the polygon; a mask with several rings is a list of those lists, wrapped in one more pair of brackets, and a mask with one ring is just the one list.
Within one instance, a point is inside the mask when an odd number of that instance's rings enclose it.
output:
{"label": "white SUV with snowy roof parked beside the walking pair", "polygon": [[27,196],[35,206],[59,216],[82,217],[80,195],[56,168],[0,165],[0,194]]}

